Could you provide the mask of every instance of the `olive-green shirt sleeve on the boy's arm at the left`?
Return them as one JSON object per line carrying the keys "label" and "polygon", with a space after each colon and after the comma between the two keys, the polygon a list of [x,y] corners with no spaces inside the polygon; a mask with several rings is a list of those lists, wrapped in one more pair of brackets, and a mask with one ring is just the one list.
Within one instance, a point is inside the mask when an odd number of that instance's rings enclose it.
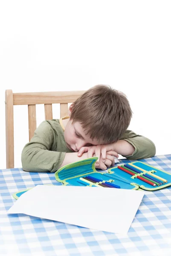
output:
{"label": "olive-green shirt sleeve on the boy's arm at the left", "polygon": [[44,121],[35,130],[21,154],[23,170],[28,172],[55,172],[64,161],[65,152],[51,151],[55,132],[52,126]]}

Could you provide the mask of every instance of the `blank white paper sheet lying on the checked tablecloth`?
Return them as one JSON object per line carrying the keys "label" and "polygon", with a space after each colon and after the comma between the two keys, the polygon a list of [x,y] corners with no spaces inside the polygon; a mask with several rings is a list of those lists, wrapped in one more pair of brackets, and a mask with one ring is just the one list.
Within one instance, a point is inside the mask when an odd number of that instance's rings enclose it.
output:
{"label": "blank white paper sheet lying on the checked tablecloth", "polygon": [[125,234],[143,195],[130,189],[38,185],[21,195],[8,213]]}

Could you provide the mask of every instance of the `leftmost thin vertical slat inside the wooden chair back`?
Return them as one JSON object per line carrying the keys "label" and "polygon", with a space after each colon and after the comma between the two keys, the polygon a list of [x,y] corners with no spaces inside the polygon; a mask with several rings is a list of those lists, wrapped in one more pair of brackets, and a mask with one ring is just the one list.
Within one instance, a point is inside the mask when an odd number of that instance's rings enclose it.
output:
{"label": "leftmost thin vertical slat inside the wooden chair back", "polygon": [[28,113],[29,113],[29,141],[30,141],[36,129],[36,105],[28,105]]}

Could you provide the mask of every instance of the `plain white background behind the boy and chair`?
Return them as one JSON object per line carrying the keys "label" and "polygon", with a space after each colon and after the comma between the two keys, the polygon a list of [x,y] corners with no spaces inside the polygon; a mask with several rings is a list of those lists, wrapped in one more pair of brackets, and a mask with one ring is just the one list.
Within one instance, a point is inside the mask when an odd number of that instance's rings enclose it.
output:
{"label": "plain white background behind the boy and chair", "polygon": [[[5,90],[87,90],[129,99],[130,129],[171,154],[171,1],[0,1],[0,169],[6,168]],[[43,121],[43,106],[37,125]],[[53,106],[54,118],[59,118]],[[28,142],[27,106],[14,106],[15,167]]]}

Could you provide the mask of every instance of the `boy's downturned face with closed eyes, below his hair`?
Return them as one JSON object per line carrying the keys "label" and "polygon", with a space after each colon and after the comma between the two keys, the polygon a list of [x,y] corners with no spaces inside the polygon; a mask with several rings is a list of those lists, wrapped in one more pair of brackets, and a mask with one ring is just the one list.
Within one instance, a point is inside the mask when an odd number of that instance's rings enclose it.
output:
{"label": "boy's downturned face with closed eyes, below his hair", "polygon": [[72,121],[69,119],[64,131],[64,138],[68,148],[78,152],[81,147],[99,144],[97,140],[92,140],[88,135],[85,135],[80,122]]}

